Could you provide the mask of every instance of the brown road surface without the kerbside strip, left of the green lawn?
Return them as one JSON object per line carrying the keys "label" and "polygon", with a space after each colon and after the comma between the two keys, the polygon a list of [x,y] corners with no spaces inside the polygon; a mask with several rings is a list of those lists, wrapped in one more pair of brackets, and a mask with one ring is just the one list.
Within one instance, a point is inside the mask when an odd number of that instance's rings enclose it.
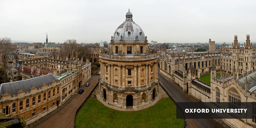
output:
{"label": "brown road surface without the kerbside strip, left of the green lawn", "polygon": [[98,83],[99,77],[100,76],[92,76],[89,87],[83,86],[79,88],[84,89],[84,93],[75,94],[76,96],[64,108],[37,125],[36,128],[73,128],[77,108],[79,108],[92,92],[93,88]]}

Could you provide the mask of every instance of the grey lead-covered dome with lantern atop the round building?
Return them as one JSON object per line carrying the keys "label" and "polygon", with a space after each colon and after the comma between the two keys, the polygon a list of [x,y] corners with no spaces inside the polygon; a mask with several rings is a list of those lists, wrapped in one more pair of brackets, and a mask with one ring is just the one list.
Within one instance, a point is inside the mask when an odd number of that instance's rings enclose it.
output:
{"label": "grey lead-covered dome with lantern atop the round building", "polygon": [[138,36],[138,40],[144,41],[145,34],[140,26],[133,22],[132,12],[130,12],[130,9],[126,13],[125,18],[124,23],[116,28],[113,40],[120,40],[121,36],[123,40],[136,40],[136,37]]}

